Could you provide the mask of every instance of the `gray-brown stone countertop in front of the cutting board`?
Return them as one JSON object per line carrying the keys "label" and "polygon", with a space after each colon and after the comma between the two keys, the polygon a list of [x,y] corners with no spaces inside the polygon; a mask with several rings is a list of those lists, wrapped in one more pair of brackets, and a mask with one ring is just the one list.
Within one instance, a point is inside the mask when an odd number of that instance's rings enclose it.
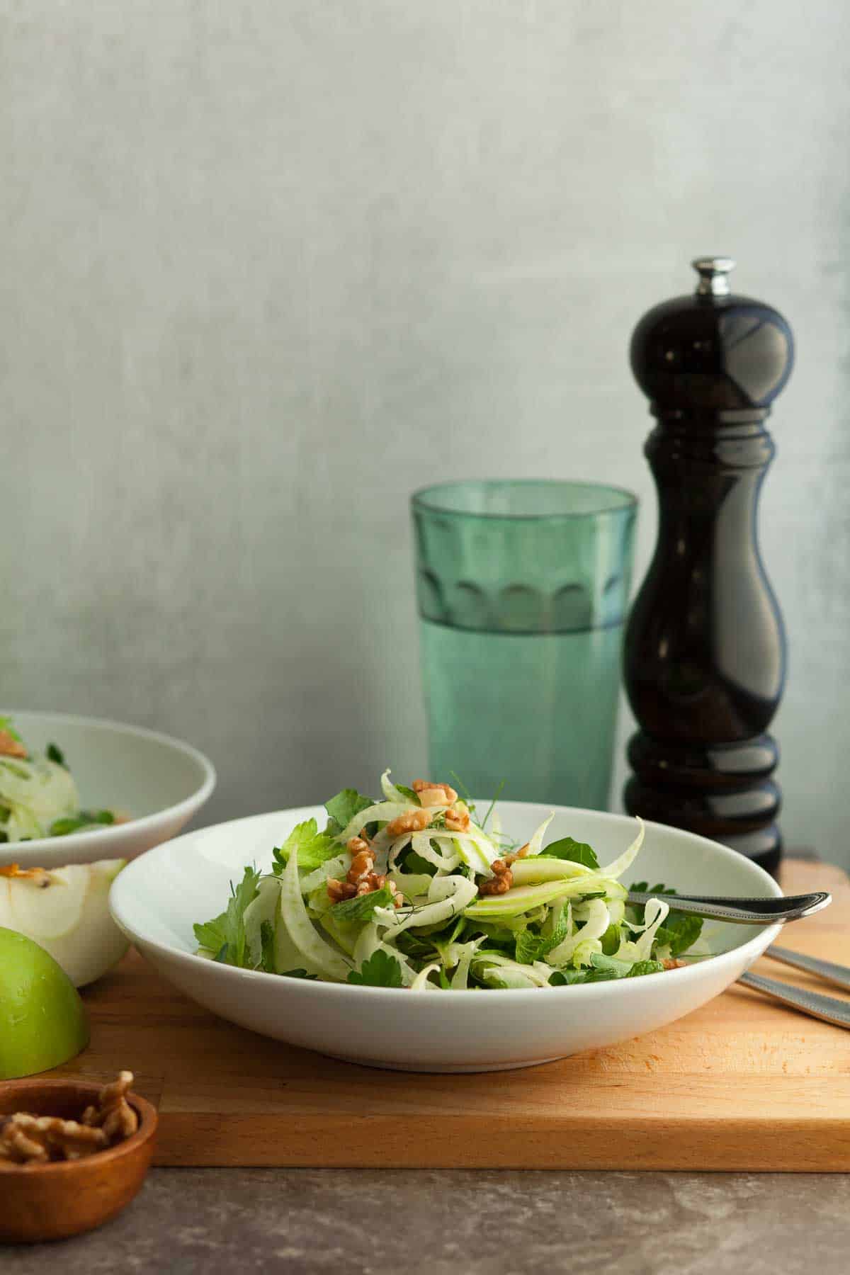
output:
{"label": "gray-brown stone countertop in front of the cutting board", "polygon": [[782,1173],[154,1169],[101,1230],[4,1275],[845,1275],[847,1178]]}

